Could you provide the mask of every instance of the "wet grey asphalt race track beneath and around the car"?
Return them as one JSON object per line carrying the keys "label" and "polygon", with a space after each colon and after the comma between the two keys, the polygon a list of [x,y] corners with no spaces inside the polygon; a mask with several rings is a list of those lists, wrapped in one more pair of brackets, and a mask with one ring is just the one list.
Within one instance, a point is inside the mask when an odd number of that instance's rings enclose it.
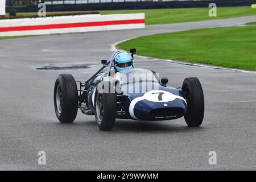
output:
{"label": "wet grey asphalt race track beneath and around the car", "polygon": [[[124,39],[193,28],[253,22],[256,16],[147,26],[122,30],[33,36],[0,41],[0,169],[170,170],[256,169],[256,73],[228,71],[135,57],[137,68],[154,69],[181,86],[196,76],[203,85],[201,127],[174,121],[123,121],[98,130],[93,116],[79,112],[72,124],[57,121],[53,85],[60,73],[85,80]],[[172,44],[170,42],[170,44]],[[150,45],[148,45],[150,46]],[[85,64],[88,68],[38,70]],[[38,152],[46,151],[46,165]],[[208,163],[209,151],[217,164]]]}

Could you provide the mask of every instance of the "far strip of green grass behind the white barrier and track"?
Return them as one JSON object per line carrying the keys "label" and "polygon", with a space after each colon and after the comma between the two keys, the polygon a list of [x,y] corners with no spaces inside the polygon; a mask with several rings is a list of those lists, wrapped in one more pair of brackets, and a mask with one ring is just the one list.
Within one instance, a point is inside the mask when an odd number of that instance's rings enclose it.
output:
{"label": "far strip of green grass behind the white barrier and track", "polygon": [[105,14],[124,13],[145,13],[146,24],[165,24],[193,22],[212,19],[233,18],[239,16],[256,15],[256,9],[251,7],[218,7],[217,17],[209,17],[209,8],[192,9],[156,9],[156,10],[121,10],[121,11],[100,11]]}

